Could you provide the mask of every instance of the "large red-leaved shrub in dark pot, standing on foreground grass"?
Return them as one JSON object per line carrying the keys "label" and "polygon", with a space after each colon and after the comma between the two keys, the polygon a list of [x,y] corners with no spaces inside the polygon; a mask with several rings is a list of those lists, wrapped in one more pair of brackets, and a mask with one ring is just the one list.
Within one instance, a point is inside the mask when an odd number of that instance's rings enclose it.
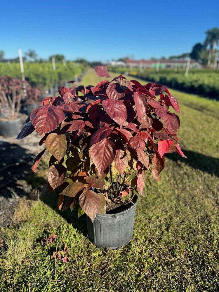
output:
{"label": "large red-leaved shrub in dark pot, standing on foreground grass", "polygon": [[[105,66],[95,70],[109,77]],[[47,149],[48,182],[59,192],[58,208],[73,210],[78,201],[90,240],[119,248],[132,238],[145,174],[160,181],[164,153],[185,157],[177,138],[179,118],[168,111],[171,106],[180,112],[178,102],[165,86],[142,85],[122,75],[97,86],[62,86],[59,93],[34,109],[18,139],[36,129],[46,148],[32,170]]]}

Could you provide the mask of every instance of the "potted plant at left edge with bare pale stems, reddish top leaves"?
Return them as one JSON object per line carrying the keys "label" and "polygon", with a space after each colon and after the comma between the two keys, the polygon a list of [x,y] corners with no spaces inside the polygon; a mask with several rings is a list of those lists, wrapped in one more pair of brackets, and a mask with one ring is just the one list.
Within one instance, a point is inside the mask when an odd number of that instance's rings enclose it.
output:
{"label": "potted plant at left edge with bare pale stems, reddish top leaves", "polygon": [[0,77],[0,135],[13,137],[20,131],[20,102],[23,97],[22,80]]}

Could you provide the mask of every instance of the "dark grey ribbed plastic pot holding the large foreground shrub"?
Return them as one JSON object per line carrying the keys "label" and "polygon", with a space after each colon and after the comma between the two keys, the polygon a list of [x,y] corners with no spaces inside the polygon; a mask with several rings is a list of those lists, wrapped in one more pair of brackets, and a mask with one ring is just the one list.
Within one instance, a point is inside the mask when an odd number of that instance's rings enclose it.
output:
{"label": "dark grey ribbed plastic pot holding the large foreground shrub", "polygon": [[88,236],[91,242],[102,248],[117,249],[131,241],[133,236],[135,208],[138,196],[128,209],[116,214],[97,214],[93,223],[86,215]]}

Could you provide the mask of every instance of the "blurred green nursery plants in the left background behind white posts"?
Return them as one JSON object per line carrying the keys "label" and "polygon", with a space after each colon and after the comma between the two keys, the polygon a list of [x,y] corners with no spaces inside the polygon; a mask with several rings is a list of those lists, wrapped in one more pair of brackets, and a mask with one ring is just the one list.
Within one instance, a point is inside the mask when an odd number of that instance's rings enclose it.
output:
{"label": "blurred green nursery plants in the left background behind white posts", "polygon": [[[57,63],[53,71],[52,63],[32,63],[24,64],[25,79],[32,86],[40,86],[41,89],[50,89],[60,81],[72,80],[79,76],[84,66],[74,62],[66,62],[64,66],[62,63]],[[7,63],[0,63],[0,76],[8,75],[13,78],[21,78],[20,64],[12,63],[10,67]]]}

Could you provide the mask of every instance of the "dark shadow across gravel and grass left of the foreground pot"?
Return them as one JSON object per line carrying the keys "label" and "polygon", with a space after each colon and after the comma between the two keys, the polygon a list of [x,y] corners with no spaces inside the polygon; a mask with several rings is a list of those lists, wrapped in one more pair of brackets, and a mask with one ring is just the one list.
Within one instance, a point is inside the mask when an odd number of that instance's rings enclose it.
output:
{"label": "dark shadow across gravel and grass left of the foreground pot", "polygon": [[[57,207],[58,194],[48,192],[47,166],[44,171],[35,174],[31,170],[34,154],[30,154],[28,150],[17,144],[10,144],[6,141],[0,141],[0,213],[11,208],[8,199],[14,201],[13,207],[18,197],[27,197],[29,199],[37,199],[34,197],[36,190],[42,193],[40,199],[60,214],[74,228],[87,236],[85,215],[78,218],[77,206],[71,212],[70,209],[59,211]],[[42,169],[42,167],[41,167]],[[38,175],[40,174],[40,175]],[[3,197],[2,200],[1,197]],[[10,210],[8,210],[10,211]],[[7,212],[4,212],[7,213]]]}

